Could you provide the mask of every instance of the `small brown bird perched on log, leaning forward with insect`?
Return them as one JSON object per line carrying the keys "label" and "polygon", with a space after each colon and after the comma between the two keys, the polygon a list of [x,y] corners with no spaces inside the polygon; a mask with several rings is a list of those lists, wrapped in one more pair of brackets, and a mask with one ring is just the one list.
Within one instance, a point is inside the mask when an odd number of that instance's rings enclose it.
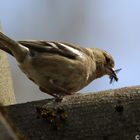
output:
{"label": "small brown bird perched on log, leaning forward with insect", "polygon": [[99,48],[52,41],[14,41],[0,32],[0,49],[15,57],[20,69],[41,91],[58,99],[104,75],[118,81],[112,56]]}

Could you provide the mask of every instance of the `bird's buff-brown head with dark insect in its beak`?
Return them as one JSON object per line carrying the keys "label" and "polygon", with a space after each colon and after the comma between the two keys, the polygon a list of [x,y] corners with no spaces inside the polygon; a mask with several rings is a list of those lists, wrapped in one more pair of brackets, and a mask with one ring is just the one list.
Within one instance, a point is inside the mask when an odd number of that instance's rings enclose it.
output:
{"label": "bird's buff-brown head with dark insect in its beak", "polygon": [[115,70],[115,62],[113,57],[106,51],[97,48],[94,49],[93,53],[96,60],[97,77],[109,75],[111,83],[113,80],[118,81],[116,73],[120,69]]}

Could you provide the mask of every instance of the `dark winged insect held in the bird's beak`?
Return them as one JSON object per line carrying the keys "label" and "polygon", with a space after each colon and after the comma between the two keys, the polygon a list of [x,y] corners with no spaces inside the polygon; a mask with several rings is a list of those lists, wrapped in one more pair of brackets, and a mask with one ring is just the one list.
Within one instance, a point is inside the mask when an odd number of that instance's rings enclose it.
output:
{"label": "dark winged insect held in the bird's beak", "polygon": [[122,70],[122,69],[120,68],[120,69],[115,70],[114,68],[110,68],[110,72],[111,72],[111,74],[109,76],[110,84],[112,84],[114,81],[116,81],[116,82],[118,81],[117,73],[120,72],[120,70]]}

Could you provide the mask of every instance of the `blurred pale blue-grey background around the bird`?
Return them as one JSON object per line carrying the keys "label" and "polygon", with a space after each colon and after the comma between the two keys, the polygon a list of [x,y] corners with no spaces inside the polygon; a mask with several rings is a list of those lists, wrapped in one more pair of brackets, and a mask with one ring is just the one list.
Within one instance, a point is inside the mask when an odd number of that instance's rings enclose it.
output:
{"label": "blurred pale blue-grey background around the bird", "polygon": [[[139,85],[139,0],[1,0],[0,22],[15,40],[64,41],[98,47],[112,54],[119,81],[110,85],[104,76],[81,92]],[[8,56],[17,102],[48,98]]]}

